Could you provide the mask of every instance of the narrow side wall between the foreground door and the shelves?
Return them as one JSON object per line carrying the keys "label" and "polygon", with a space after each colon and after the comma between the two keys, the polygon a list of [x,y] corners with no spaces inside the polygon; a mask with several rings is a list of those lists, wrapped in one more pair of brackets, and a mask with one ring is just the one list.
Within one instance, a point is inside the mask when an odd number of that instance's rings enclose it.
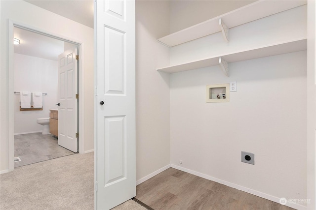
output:
{"label": "narrow side wall between the foreground door and the shelves", "polygon": [[[168,48],[156,39],[169,32],[168,1],[136,1],[136,180],[170,165]],[[145,178],[145,179],[142,179]]]}

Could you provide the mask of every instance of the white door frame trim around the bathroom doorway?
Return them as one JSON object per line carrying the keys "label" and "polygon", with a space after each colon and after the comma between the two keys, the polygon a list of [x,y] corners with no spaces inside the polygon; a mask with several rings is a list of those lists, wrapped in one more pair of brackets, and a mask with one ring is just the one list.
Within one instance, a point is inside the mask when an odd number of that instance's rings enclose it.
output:
{"label": "white door frame trim around the bathroom doorway", "polygon": [[[61,41],[70,42],[72,44],[78,45],[79,47],[79,65],[78,65],[78,93],[79,93],[79,116],[78,116],[78,123],[79,123],[79,153],[84,153],[84,91],[83,91],[83,47],[84,44],[82,41],[75,40],[73,38],[65,37],[63,34],[54,34],[49,31],[45,31],[42,29],[37,29],[33,26],[29,26],[23,23],[19,23],[16,21],[9,20],[8,21],[8,37],[13,37],[14,34],[14,27],[18,27],[24,30],[30,30],[32,32],[36,32],[42,35],[46,35],[55,39],[59,39]],[[13,42],[8,43],[8,169],[9,172],[14,170],[14,99],[13,99],[13,91],[14,91],[14,47]]]}

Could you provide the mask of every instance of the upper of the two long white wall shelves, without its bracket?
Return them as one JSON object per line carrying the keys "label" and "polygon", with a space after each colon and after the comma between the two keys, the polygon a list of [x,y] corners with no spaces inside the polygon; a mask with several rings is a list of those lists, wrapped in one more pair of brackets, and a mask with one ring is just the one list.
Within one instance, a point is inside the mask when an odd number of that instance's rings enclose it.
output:
{"label": "upper of the two long white wall shelves, without its bracket", "polygon": [[229,29],[304,4],[307,4],[306,0],[258,0],[187,29],[161,37],[158,41],[169,47],[173,47],[222,31],[219,25],[219,19],[224,21]]}

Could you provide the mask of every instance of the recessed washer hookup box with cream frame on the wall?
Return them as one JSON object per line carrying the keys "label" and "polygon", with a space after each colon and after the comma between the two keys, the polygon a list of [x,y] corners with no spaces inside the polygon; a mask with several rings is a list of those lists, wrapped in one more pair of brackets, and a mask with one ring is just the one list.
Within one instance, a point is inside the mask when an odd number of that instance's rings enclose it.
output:
{"label": "recessed washer hookup box with cream frame on the wall", "polygon": [[207,85],[206,102],[229,102],[229,83]]}

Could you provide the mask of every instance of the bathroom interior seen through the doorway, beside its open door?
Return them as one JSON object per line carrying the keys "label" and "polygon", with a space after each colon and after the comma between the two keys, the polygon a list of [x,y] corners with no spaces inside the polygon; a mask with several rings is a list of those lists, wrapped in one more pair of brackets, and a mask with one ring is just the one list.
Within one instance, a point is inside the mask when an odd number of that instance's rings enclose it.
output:
{"label": "bathroom interior seen through the doorway, beside its open door", "polygon": [[[20,42],[14,45],[14,167],[75,154],[58,145],[58,131],[53,126],[57,123],[58,128],[58,56],[80,46],[19,27],[14,27],[14,38]],[[34,107],[36,94],[41,108]],[[29,109],[25,104],[22,107],[24,96]],[[78,107],[76,112],[79,119]],[[78,120],[69,123],[78,129]]]}

